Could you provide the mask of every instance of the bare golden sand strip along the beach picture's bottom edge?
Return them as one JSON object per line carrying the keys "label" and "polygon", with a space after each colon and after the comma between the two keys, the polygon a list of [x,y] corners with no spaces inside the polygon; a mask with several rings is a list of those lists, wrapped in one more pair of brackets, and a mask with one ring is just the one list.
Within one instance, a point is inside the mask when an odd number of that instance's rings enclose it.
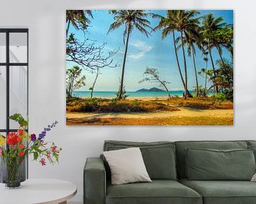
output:
{"label": "bare golden sand strip along the beach picture's bottom edge", "polygon": [[233,125],[232,109],[178,109],[160,113],[67,113],[67,125]]}

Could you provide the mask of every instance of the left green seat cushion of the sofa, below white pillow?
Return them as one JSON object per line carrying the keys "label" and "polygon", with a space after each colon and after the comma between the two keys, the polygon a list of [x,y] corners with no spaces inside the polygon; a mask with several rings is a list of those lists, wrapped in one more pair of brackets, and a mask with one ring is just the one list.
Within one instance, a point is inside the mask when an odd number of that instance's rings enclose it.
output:
{"label": "left green seat cushion of the sofa, below white pillow", "polygon": [[201,196],[177,181],[153,180],[150,183],[107,185],[106,204],[202,204]]}

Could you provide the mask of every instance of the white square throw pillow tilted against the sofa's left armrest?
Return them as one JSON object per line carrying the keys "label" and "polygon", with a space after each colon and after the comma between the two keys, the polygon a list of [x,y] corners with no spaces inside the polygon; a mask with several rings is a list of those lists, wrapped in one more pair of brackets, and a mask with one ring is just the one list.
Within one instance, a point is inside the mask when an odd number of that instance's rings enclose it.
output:
{"label": "white square throw pillow tilted against the sofa's left armrest", "polygon": [[111,170],[112,185],[151,181],[139,147],[103,152]]}

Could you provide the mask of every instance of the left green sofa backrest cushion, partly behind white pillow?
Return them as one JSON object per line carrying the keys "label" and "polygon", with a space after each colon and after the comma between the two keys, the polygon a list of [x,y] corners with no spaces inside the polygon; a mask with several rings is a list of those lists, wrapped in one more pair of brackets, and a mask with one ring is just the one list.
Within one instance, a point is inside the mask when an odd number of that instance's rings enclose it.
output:
{"label": "left green sofa backrest cushion, partly behind white pillow", "polygon": [[[139,147],[146,171],[151,179],[176,180],[176,151],[174,142],[124,142],[107,140],[104,151]],[[106,162],[105,162],[106,165]],[[106,166],[106,171],[110,171]],[[107,172],[110,174],[110,172]]]}

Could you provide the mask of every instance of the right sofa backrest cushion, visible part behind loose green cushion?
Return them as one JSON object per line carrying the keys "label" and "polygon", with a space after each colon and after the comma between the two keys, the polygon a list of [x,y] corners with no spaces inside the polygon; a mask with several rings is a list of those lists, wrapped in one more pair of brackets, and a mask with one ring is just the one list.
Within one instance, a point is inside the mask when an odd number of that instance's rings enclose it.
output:
{"label": "right sofa backrest cushion, visible part behind loose green cushion", "polygon": [[175,142],[178,178],[186,177],[185,149],[247,149],[246,141],[180,141]]}

